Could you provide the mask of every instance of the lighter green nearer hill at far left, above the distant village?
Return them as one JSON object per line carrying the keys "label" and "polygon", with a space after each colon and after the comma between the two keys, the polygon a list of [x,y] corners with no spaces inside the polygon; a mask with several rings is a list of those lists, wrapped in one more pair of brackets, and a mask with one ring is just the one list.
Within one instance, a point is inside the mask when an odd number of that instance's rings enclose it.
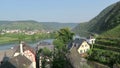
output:
{"label": "lighter green nearer hill at far left, above the distant village", "polygon": [[26,30],[33,30],[33,29],[42,29],[42,24],[39,24],[35,21],[7,21],[7,22],[0,22],[0,29],[26,29]]}

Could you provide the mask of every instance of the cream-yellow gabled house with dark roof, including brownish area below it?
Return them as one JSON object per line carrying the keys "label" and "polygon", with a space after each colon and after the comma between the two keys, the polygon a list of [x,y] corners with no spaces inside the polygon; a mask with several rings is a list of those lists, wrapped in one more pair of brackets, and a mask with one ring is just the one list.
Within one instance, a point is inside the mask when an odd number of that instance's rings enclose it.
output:
{"label": "cream-yellow gabled house with dark roof, including brownish area below it", "polygon": [[67,59],[70,61],[72,68],[90,68],[86,57],[86,52],[90,49],[90,45],[85,39],[75,39],[68,45],[69,52]]}

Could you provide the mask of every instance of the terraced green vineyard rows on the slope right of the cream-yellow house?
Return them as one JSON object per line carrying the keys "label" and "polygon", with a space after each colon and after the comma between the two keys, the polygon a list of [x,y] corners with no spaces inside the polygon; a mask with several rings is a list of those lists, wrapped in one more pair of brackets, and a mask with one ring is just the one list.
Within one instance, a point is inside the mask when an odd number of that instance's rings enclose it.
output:
{"label": "terraced green vineyard rows on the slope right of the cream-yellow house", "polygon": [[114,64],[120,64],[120,39],[99,37],[93,47],[89,60],[108,65],[111,68]]}

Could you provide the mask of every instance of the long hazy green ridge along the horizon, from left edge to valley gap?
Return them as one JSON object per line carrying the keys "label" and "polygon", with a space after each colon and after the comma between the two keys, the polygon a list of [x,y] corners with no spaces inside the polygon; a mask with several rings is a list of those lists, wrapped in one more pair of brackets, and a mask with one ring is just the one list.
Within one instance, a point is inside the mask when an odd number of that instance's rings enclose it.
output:
{"label": "long hazy green ridge along the horizon, from left edge to valley gap", "polygon": [[72,29],[76,25],[77,25],[76,23],[37,22],[33,20],[0,21],[0,29],[58,30],[64,27],[68,27]]}

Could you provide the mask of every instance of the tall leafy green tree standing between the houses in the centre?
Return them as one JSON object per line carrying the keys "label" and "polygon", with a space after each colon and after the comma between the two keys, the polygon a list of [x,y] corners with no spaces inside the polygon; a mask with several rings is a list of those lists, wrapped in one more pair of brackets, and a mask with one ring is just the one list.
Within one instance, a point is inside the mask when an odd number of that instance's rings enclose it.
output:
{"label": "tall leafy green tree standing between the houses in the centre", "polygon": [[54,55],[52,68],[67,68],[67,44],[73,40],[73,35],[74,33],[72,33],[68,28],[63,28],[56,32],[56,37],[53,42]]}

